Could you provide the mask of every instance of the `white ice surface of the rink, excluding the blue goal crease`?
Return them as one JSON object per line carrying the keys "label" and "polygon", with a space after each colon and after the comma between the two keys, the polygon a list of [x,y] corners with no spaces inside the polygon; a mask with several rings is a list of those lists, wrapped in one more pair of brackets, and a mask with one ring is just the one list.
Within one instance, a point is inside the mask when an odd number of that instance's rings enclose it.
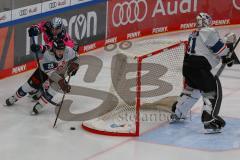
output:
{"label": "white ice surface of the rink, excluding the blue goal crease", "polygon": [[[219,31],[222,35],[229,31],[240,35],[238,27],[219,28]],[[148,36],[134,41],[145,40],[151,42],[155,38],[175,41],[186,40],[188,33]],[[240,47],[236,52],[240,54]],[[112,55],[110,53],[103,54],[103,49],[98,49],[90,54],[101,58],[104,66],[105,63],[111,62]],[[81,68],[76,77],[81,77],[82,72],[84,72],[84,67]],[[29,71],[0,81],[0,160],[239,160],[240,149],[209,152],[171,145],[152,144],[138,141],[136,138],[94,135],[80,128],[80,122],[59,120],[57,128],[53,129],[54,107],[48,106],[39,116],[30,116],[29,112],[34,103],[28,98],[24,98],[13,107],[4,107],[2,104],[5,98],[11,96],[31,73],[32,71]],[[109,86],[108,78],[99,76],[96,81],[101,83],[88,83],[88,85],[91,88],[104,90]],[[83,82],[81,78],[73,78],[71,83],[77,84],[80,81]],[[226,117],[240,118],[240,66],[226,68],[221,76],[221,81],[223,102],[220,114]],[[100,103],[86,97],[72,98],[74,104],[76,104],[71,108],[74,113],[91,110],[95,104]],[[80,107],[79,104],[81,104]],[[201,106],[201,103],[196,105],[194,112],[200,113],[199,106]],[[76,127],[76,130],[69,130],[71,126]]]}

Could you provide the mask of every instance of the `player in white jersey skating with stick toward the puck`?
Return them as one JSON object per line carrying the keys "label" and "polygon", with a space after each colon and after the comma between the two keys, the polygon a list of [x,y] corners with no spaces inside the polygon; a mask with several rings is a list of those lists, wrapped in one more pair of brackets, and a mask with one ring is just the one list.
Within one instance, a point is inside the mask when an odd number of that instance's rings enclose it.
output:
{"label": "player in white jersey skating with stick toward the puck", "polygon": [[8,106],[13,105],[27,93],[40,88],[39,85],[42,83],[49,82],[50,85],[44,88],[42,96],[33,107],[32,114],[38,114],[43,106],[48,102],[53,102],[52,99],[58,91],[70,92],[71,86],[67,84],[65,77],[76,74],[79,68],[79,58],[72,48],[65,46],[63,40],[57,39],[53,41],[52,49],[44,53],[43,59],[40,60],[40,68],[39,74],[41,75],[34,76],[33,80],[26,82],[12,97],[6,100]]}

